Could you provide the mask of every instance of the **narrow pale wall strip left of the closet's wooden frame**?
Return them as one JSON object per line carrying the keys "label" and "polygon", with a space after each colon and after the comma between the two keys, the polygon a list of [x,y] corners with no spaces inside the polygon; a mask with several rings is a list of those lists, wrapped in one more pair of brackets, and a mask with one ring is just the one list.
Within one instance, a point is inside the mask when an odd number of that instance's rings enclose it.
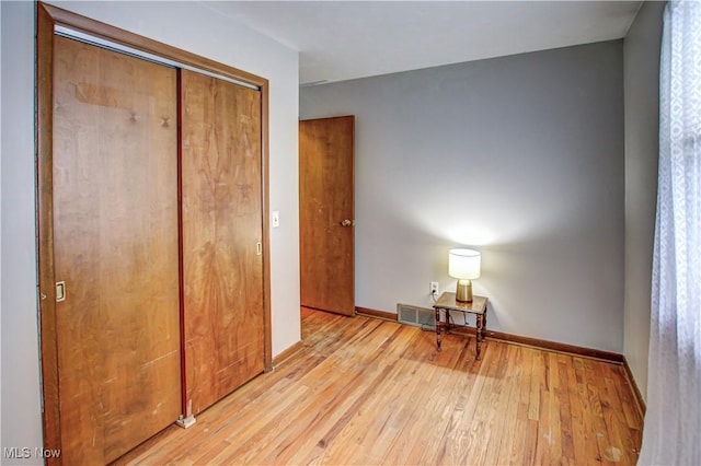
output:
{"label": "narrow pale wall strip left of the closet's wooden frame", "polygon": [[[2,9],[2,447],[42,445],[34,230],[34,4]],[[0,455],[2,453],[0,452]],[[8,461],[2,457],[0,463]],[[36,458],[24,464],[36,464]]]}

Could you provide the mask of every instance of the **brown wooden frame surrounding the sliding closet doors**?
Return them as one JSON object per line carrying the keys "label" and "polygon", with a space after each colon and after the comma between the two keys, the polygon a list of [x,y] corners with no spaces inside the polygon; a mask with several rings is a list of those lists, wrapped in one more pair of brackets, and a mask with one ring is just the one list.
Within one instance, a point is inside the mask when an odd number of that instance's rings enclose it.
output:
{"label": "brown wooden frame surrounding the sliding closet doors", "polygon": [[[269,184],[268,184],[268,81],[265,78],[209,60],[185,50],[152,40],[91,20],[85,16],[38,2],[36,7],[36,225],[38,261],[38,319],[41,351],[41,384],[43,404],[44,447],[60,448],[60,393],[58,383],[58,347],[56,336],[56,289],[54,273],[54,182],[53,182],[53,126],[54,126],[54,36],[57,26],[100,37],[166,60],[172,60],[222,78],[258,88],[261,92],[261,177],[263,228],[263,317],[264,317],[264,368],[273,368],[271,327],[271,257],[269,257]],[[179,102],[180,105],[180,102]],[[179,125],[180,136],[180,125]],[[180,138],[179,138],[180,139]],[[180,142],[179,142],[180,145]],[[181,203],[180,153],[177,203]],[[179,214],[179,243],[182,247],[182,219]],[[180,253],[179,253],[180,254]],[[182,280],[182,254],[179,273]],[[181,281],[181,365],[183,356],[183,290]],[[185,374],[182,369],[181,376]],[[182,382],[182,381],[181,381]],[[184,401],[185,397],[183,397]],[[185,415],[185,409],[183,409]],[[49,458],[48,464],[60,464],[60,458]]]}

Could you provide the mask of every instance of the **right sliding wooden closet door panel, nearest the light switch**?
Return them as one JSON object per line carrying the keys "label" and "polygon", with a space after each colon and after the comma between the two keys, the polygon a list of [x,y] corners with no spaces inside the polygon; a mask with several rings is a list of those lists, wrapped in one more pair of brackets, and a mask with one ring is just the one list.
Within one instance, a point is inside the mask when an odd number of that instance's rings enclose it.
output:
{"label": "right sliding wooden closet door panel, nearest the light switch", "polygon": [[261,94],[182,71],[186,397],[197,413],[264,370]]}

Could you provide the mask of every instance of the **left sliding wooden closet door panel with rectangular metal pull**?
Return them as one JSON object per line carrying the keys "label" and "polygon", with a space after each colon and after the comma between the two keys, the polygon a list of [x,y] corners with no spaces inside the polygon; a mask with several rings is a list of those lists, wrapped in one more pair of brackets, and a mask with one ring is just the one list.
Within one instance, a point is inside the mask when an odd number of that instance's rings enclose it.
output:
{"label": "left sliding wooden closet door panel with rectangular metal pull", "polygon": [[61,459],[105,464],[181,413],[176,72],[54,40]]}

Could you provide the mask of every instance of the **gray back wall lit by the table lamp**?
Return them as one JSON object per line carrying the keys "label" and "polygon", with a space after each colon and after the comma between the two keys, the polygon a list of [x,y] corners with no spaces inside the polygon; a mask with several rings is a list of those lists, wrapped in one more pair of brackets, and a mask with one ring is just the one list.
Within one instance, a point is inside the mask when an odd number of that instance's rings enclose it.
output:
{"label": "gray back wall lit by the table lamp", "polygon": [[357,306],[430,306],[467,245],[492,329],[622,352],[621,40],[300,91],[303,119],[344,114]]}

